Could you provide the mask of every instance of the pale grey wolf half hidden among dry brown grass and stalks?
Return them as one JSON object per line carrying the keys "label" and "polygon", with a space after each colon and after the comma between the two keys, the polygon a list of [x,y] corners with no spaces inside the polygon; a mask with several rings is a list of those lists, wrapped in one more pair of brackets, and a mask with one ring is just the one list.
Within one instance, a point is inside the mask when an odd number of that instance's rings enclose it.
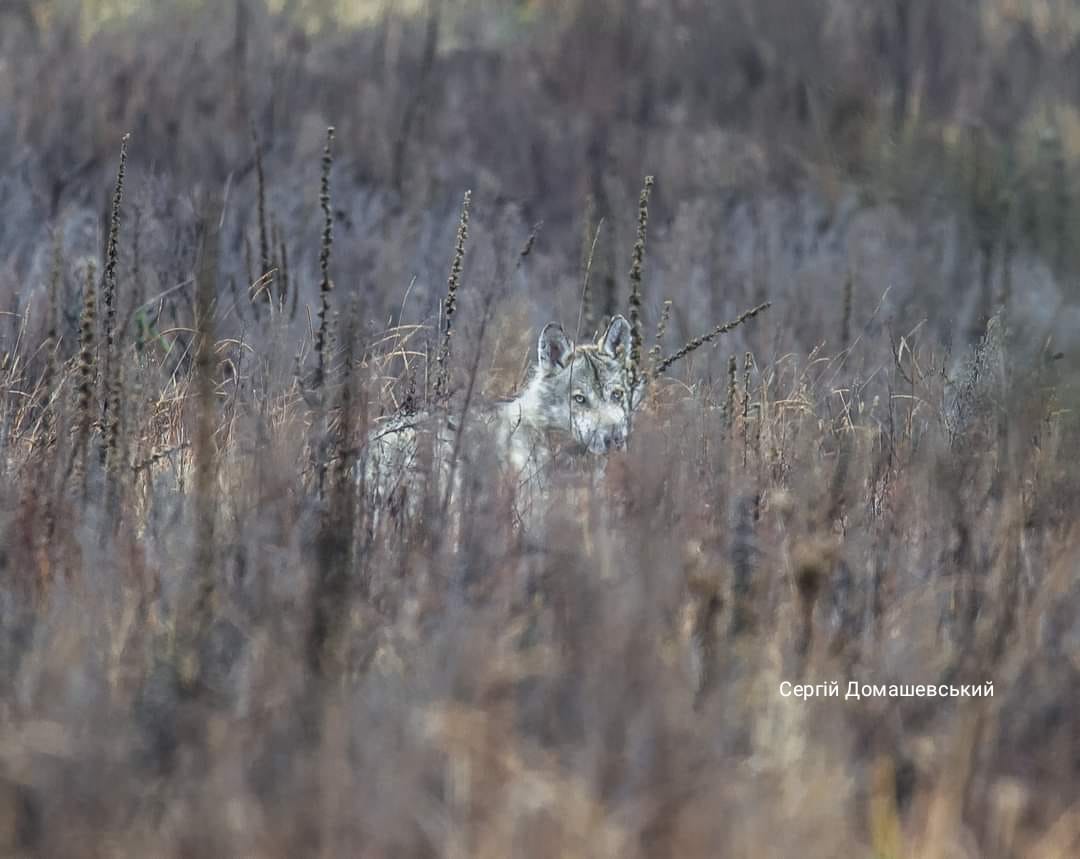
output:
{"label": "pale grey wolf half hidden among dry brown grass and stalks", "polygon": [[[630,361],[631,336],[622,316],[583,345],[549,322],[524,389],[480,408],[476,422],[529,509],[542,497],[556,455],[604,457],[626,447],[647,384]],[[460,494],[463,429],[457,416],[404,413],[368,434],[357,477],[376,518],[380,511],[416,515],[420,500],[432,497],[426,488],[447,501]]]}

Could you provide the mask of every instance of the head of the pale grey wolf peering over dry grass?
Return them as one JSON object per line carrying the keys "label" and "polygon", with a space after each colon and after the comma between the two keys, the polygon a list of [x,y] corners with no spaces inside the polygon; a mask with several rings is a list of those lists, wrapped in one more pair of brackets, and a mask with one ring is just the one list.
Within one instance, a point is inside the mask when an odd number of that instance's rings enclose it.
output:
{"label": "head of the pale grey wolf peering over dry grass", "polygon": [[562,325],[545,325],[528,392],[530,419],[569,434],[594,454],[625,447],[645,394],[644,378],[627,362],[630,337],[630,323],[621,316],[586,346],[575,346]]}

